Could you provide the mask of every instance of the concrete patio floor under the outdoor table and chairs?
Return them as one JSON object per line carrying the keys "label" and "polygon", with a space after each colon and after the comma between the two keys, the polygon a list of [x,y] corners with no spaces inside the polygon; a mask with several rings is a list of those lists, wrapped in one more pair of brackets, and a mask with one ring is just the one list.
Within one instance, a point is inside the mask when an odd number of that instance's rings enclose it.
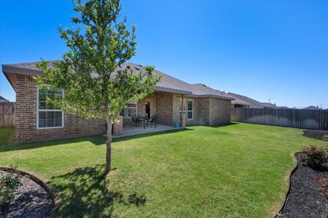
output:
{"label": "concrete patio floor under the outdoor table and chairs", "polygon": [[185,127],[174,128],[173,126],[167,126],[167,125],[162,125],[162,124],[157,124],[156,128],[154,128],[153,126],[148,126],[148,127],[146,126],[146,128],[143,128],[143,126],[142,127],[141,126],[140,127],[138,126],[135,128],[131,128],[130,126],[123,126],[122,135],[113,135],[113,138],[130,136],[130,135],[139,135],[139,134],[144,134],[144,133],[157,133],[157,132],[185,128]]}

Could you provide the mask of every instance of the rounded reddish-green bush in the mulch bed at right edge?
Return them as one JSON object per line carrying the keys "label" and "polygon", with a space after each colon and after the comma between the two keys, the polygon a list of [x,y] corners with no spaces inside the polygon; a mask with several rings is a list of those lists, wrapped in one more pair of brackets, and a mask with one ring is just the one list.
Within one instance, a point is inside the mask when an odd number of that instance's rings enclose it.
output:
{"label": "rounded reddish-green bush in the mulch bed at right edge", "polygon": [[303,148],[302,161],[314,169],[328,169],[328,148]]}

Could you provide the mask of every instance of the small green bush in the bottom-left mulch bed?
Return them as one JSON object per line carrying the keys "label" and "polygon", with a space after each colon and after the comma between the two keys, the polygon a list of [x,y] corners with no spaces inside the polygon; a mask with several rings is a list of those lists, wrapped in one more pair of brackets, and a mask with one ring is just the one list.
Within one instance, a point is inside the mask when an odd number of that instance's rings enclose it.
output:
{"label": "small green bush in the bottom-left mulch bed", "polygon": [[21,185],[19,174],[15,172],[0,172],[0,206],[12,200],[16,189]]}

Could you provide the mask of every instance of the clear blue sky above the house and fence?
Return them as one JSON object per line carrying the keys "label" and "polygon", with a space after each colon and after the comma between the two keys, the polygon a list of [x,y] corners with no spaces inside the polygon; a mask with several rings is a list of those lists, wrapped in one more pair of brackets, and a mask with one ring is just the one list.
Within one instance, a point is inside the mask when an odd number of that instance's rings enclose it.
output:
{"label": "clear blue sky above the house and fence", "polygon": [[[60,59],[72,3],[0,1],[0,64]],[[188,83],[328,108],[328,1],[122,1],[137,55]],[[15,100],[0,73],[0,95]]]}

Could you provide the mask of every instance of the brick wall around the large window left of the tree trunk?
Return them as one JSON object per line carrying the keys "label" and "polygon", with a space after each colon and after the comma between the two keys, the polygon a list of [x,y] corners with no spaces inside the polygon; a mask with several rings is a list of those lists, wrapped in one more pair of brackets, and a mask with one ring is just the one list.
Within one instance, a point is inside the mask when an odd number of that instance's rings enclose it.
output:
{"label": "brick wall around the large window left of the tree trunk", "polygon": [[105,134],[105,120],[87,120],[68,112],[64,112],[63,128],[36,128],[36,95],[36,82],[31,77],[16,75],[16,141]]}

